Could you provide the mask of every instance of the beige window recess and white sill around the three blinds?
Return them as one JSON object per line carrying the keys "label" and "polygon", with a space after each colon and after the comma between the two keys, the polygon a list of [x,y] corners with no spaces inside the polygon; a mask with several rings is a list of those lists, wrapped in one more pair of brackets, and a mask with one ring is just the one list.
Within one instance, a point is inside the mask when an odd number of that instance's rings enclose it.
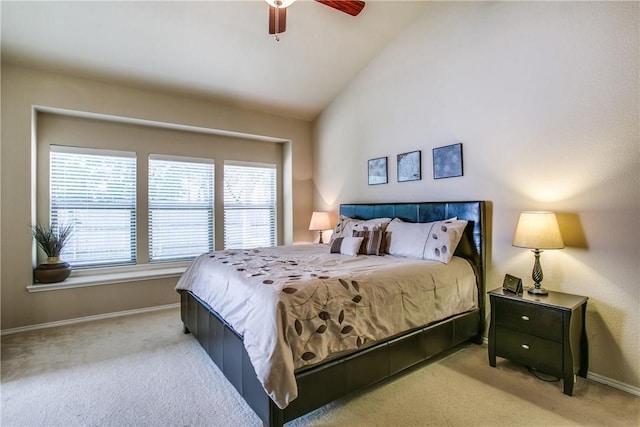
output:
{"label": "beige window recess and white sill around the three blinds", "polygon": [[[44,125],[43,123],[47,123]],[[71,126],[71,127],[69,127]],[[115,126],[115,128],[113,127]],[[123,133],[134,128],[134,136],[129,134],[122,137]],[[61,130],[62,129],[62,130]],[[66,133],[65,133],[66,131]],[[141,135],[141,132],[143,133]],[[162,141],[146,137],[144,133],[162,133]],[[185,136],[185,140],[167,141],[179,133]],[[69,139],[68,136],[73,138]],[[175,139],[175,138],[174,138]],[[96,267],[86,269],[74,269],[71,276],[58,284],[28,284],[29,292],[67,289],[111,283],[125,283],[159,278],[175,278],[191,263],[191,261],[167,262],[161,264],[148,263],[148,237],[147,233],[146,202],[140,205],[141,200],[147,199],[146,181],[141,186],[141,177],[148,173],[147,164],[141,164],[140,159],[146,158],[150,152],[166,155],[176,155],[196,158],[213,158],[219,164],[224,161],[246,161],[247,163],[260,163],[265,159],[269,163],[277,165],[277,192],[278,192],[278,231],[277,244],[282,244],[283,239],[291,239],[292,219],[290,202],[283,202],[284,190],[287,194],[291,190],[291,140],[267,137],[264,135],[251,135],[213,128],[204,128],[191,125],[180,125],[170,122],[154,120],[134,119],[108,114],[96,114],[80,110],[32,106],[32,139],[31,139],[31,224],[37,222],[49,222],[49,145],[64,145],[77,148],[135,151],[138,156],[138,216],[137,216],[137,264],[120,267]],[[156,147],[160,147],[156,149]],[[222,192],[222,167],[216,168],[217,195]],[[146,178],[144,178],[146,179]],[[286,183],[285,180],[286,179]],[[215,201],[216,224],[223,224],[222,201]],[[284,210],[283,210],[284,209]],[[143,212],[143,214],[140,214]],[[286,214],[289,212],[288,214]],[[282,221],[284,218],[288,224],[288,232],[283,234]],[[143,241],[144,239],[144,241]],[[223,232],[221,227],[216,227],[216,250],[222,249]],[[38,249],[32,241],[32,266],[37,265]]]}

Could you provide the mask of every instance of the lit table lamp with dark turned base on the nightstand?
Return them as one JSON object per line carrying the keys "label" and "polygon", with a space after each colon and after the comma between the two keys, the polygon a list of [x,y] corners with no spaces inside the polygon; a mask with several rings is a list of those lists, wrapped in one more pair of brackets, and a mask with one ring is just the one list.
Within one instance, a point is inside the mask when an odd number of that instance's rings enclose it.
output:
{"label": "lit table lamp with dark turned base on the nightstand", "polygon": [[547,290],[541,285],[543,275],[540,254],[542,249],[564,248],[556,214],[540,211],[521,212],[512,244],[519,248],[531,249],[535,257],[531,273],[534,286],[527,289],[527,292],[535,295],[547,295]]}

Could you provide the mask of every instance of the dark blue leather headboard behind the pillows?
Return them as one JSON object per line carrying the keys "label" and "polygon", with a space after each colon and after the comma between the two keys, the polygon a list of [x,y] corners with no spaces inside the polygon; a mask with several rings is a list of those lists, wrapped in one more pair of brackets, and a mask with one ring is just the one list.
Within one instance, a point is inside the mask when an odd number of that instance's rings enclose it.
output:
{"label": "dark blue leather headboard behind the pillows", "polygon": [[478,277],[478,302],[484,318],[486,202],[357,203],[340,205],[340,214],[356,219],[400,218],[410,222],[431,222],[458,217],[469,223],[455,255],[468,259]]}

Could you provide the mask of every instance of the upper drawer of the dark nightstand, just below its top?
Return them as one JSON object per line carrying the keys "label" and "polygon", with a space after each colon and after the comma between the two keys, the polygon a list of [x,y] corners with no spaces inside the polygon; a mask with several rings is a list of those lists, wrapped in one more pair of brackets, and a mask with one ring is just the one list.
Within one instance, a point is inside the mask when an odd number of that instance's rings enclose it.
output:
{"label": "upper drawer of the dark nightstand, just below its top", "polygon": [[562,341],[562,312],[513,300],[493,301],[498,327]]}

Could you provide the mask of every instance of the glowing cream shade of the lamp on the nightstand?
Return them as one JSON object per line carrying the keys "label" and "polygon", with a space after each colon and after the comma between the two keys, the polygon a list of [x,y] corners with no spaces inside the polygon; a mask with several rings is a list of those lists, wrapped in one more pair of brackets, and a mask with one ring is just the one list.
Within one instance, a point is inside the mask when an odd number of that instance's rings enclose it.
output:
{"label": "glowing cream shade of the lamp on the nightstand", "polygon": [[520,213],[513,246],[529,249],[562,249],[564,242],[553,212],[525,211]]}

